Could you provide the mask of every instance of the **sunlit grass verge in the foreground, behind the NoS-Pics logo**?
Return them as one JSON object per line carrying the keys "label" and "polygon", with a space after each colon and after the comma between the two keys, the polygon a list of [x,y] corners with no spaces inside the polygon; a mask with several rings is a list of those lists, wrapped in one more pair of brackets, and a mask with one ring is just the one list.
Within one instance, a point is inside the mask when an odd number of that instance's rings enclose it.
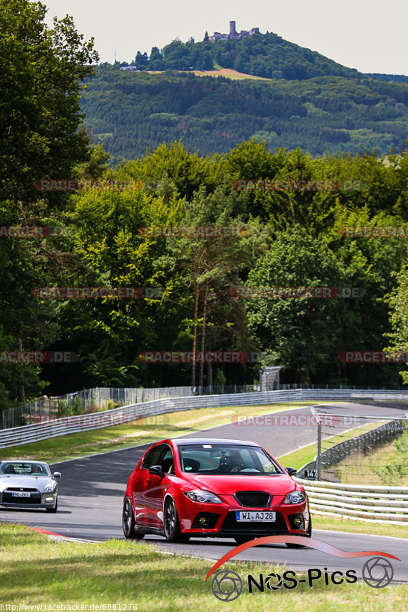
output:
{"label": "sunlit grass verge in the foreground, behind the NoS-Pics logo", "polygon": [[[206,575],[212,561],[162,554],[152,545],[126,540],[100,543],[54,542],[24,526],[0,523],[2,564],[0,601],[19,605],[106,605],[105,610],[127,612],[185,612],[225,610]],[[325,586],[323,578],[297,588],[248,593],[247,575],[276,571],[275,565],[229,562],[224,569],[239,573],[243,591],[230,605],[234,612],[264,612],[272,606],[291,612],[384,612],[406,610],[408,586],[373,589],[363,581]],[[300,577],[300,572],[296,573]],[[273,599],[270,599],[273,598]],[[111,606],[110,608],[108,606]],[[129,607],[129,605],[131,605]],[[6,609],[6,608],[4,608]],[[10,608],[7,608],[10,610]],[[75,608],[74,608],[75,609]]]}

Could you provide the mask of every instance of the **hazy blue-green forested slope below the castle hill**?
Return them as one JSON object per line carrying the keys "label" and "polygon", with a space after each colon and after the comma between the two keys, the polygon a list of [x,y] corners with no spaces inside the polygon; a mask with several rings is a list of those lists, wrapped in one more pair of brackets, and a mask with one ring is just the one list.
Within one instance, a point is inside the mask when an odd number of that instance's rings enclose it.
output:
{"label": "hazy blue-green forested slope below the castle hill", "polygon": [[123,72],[104,65],[85,81],[81,109],[94,143],[115,165],[182,138],[188,151],[222,154],[255,138],[302,148],[399,151],[408,133],[408,84],[344,76],[307,81],[231,80],[170,71]]}

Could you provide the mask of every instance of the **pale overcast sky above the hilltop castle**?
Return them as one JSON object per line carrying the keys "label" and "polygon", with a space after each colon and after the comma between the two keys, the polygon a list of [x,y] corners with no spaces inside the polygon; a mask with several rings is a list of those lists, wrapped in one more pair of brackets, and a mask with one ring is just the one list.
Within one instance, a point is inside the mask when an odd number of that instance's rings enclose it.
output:
{"label": "pale overcast sky above the hilltop castle", "polygon": [[196,42],[207,30],[274,32],[360,72],[408,75],[407,0],[42,0],[52,17],[72,15],[95,38],[100,61],[130,62],[172,40]]}

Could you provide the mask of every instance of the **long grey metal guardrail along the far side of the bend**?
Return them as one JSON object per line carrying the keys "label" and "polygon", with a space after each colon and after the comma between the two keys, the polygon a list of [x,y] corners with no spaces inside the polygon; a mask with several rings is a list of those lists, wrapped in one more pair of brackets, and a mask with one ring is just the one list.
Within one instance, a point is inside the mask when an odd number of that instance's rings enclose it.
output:
{"label": "long grey metal guardrail along the far side of the bend", "polygon": [[22,427],[0,430],[0,448],[28,444],[46,438],[76,433],[131,422],[138,417],[176,412],[195,408],[223,408],[224,406],[256,406],[287,401],[341,401],[341,400],[393,400],[408,401],[408,391],[351,390],[351,389],[294,389],[261,391],[240,394],[198,395],[171,399],[144,401],[103,412],[80,416],[61,417]]}

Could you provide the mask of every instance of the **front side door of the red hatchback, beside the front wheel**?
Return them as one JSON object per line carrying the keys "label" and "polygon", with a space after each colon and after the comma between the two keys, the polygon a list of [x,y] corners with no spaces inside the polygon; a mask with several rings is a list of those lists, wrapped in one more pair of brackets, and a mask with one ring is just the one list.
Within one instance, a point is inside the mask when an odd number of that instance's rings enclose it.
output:
{"label": "front side door of the red hatchback, beside the front wheel", "polygon": [[149,474],[146,479],[146,521],[150,527],[163,528],[163,498],[170,484],[168,472],[172,470],[174,473],[174,458],[168,444],[163,445],[163,452],[157,464],[153,465],[160,465],[164,477]]}

